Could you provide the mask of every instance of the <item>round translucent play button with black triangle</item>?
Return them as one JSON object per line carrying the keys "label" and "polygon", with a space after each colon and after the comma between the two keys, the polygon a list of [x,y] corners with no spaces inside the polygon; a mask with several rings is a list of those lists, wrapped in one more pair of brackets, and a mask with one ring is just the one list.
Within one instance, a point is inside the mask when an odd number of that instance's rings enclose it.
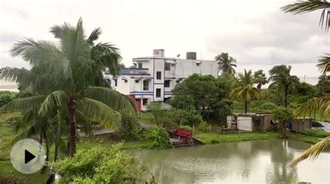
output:
{"label": "round translucent play button with black triangle", "polygon": [[33,139],[19,140],[10,151],[13,167],[24,174],[38,172],[45,165],[45,159],[45,149]]}

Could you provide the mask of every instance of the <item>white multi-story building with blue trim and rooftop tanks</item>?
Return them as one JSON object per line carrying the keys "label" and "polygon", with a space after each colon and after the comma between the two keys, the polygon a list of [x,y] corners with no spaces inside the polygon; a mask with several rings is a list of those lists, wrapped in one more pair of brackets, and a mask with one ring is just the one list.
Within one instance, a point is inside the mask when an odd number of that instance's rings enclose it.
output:
{"label": "white multi-story building with blue trim and rooftop tanks", "polygon": [[218,76],[217,61],[196,60],[195,52],[188,52],[186,59],[166,58],[164,49],[155,49],[153,56],[133,58],[133,63],[118,76],[106,73],[105,77],[111,87],[136,99],[139,110],[149,102],[171,98],[175,85],[191,74]]}

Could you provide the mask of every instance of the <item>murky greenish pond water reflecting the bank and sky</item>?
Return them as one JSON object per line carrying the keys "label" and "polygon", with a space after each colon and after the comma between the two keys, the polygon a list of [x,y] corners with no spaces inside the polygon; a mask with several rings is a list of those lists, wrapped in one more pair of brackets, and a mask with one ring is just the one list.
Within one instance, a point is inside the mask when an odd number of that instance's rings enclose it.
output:
{"label": "murky greenish pond water reflecting the bank and sky", "polygon": [[132,151],[161,183],[330,183],[330,151],[297,167],[289,163],[311,144],[262,140]]}

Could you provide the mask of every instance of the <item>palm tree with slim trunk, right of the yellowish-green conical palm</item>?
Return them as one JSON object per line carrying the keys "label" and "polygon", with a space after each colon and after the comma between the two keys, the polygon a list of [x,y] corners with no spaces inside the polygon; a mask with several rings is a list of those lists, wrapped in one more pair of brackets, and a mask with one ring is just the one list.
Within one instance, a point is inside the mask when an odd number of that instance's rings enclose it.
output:
{"label": "palm tree with slim trunk, right of the yellowish-green conical palm", "polygon": [[278,94],[284,95],[285,108],[288,108],[288,94],[290,90],[295,88],[295,84],[299,82],[297,76],[290,75],[291,67],[286,65],[274,66],[269,70],[269,81],[272,83],[269,88],[275,88]]}

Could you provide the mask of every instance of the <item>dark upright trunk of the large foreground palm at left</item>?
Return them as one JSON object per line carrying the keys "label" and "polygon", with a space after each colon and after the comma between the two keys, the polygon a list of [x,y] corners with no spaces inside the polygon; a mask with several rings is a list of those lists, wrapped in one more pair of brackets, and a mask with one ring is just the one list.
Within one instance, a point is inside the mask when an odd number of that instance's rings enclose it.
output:
{"label": "dark upright trunk of the large foreground palm at left", "polygon": [[68,103],[69,110],[69,137],[68,137],[68,154],[73,156],[76,153],[76,117],[75,117],[75,101],[70,97]]}

